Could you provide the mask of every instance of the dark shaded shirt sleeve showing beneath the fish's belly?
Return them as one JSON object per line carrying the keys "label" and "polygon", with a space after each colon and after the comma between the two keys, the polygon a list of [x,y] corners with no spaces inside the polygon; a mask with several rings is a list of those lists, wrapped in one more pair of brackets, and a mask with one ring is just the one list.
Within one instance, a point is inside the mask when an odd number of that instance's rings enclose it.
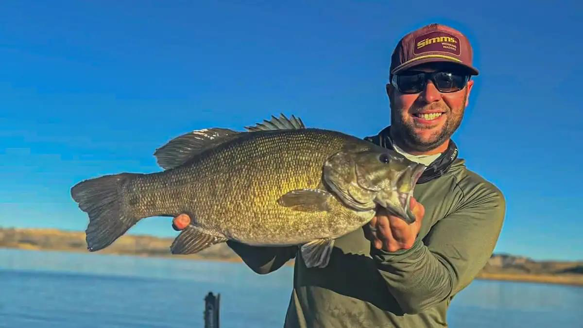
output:
{"label": "dark shaded shirt sleeve showing beneath the fish's belly", "polygon": [[297,246],[264,247],[250,246],[228,240],[227,245],[237,253],[251,270],[258,274],[268,274],[282,267],[296,257]]}

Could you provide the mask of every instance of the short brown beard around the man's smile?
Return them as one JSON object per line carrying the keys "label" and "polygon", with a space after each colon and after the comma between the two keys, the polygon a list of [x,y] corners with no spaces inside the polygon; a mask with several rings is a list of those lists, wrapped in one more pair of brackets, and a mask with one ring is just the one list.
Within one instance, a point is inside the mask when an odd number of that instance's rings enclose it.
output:
{"label": "short brown beard around the man's smile", "polygon": [[[463,103],[465,104],[465,101]],[[391,109],[393,106],[394,105],[391,102]],[[413,109],[413,112],[422,112],[424,109],[428,108],[431,108],[431,105],[424,106],[419,110]],[[447,106],[447,104],[441,103],[440,109],[445,110],[445,114],[447,114],[447,120],[445,121],[441,131],[429,140],[423,140],[415,133],[415,123],[406,123],[403,121],[402,114],[409,115],[409,112],[400,113],[396,110],[391,110],[391,138],[397,139],[397,143],[402,144],[405,150],[417,152],[431,151],[432,149],[435,149],[438,146],[444,144],[444,142],[451,138],[454,132],[458,130],[459,125],[462,123],[465,108],[462,107],[460,109],[452,110]]]}

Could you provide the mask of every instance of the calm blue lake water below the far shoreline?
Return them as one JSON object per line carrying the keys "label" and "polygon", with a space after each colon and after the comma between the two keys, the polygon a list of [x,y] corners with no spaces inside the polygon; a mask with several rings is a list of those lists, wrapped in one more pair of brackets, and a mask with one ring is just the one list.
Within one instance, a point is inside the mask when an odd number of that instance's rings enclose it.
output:
{"label": "calm blue lake water below the far shoreline", "polygon": [[[0,249],[0,327],[202,327],[221,294],[221,328],[281,327],[293,270],[240,263]],[[583,328],[583,288],[476,280],[450,327]]]}

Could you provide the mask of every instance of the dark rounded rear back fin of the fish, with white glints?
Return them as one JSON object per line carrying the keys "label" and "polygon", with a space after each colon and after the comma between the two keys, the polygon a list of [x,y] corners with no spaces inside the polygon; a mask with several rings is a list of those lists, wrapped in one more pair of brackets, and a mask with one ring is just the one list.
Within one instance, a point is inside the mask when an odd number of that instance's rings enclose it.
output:
{"label": "dark rounded rear back fin of the fish, with white glints", "polygon": [[156,149],[154,156],[156,156],[158,165],[164,170],[176,168],[199,153],[236,138],[240,133],[225,128],[192,131],[174,138],[166,145]]}

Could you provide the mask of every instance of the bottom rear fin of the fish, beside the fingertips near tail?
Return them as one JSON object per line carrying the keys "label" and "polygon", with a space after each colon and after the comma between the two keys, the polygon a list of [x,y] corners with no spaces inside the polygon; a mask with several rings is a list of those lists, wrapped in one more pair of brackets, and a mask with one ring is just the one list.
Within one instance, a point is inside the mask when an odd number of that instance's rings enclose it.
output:
{"label": "bottom rear fin of the fish, beside the fingertips near tail", "polygon": [[224,236],[204,231],[198,226],[189,224],[170,246],[173,254],[192,254],[199,252],[206,247],[226,242],[228,239]]}

